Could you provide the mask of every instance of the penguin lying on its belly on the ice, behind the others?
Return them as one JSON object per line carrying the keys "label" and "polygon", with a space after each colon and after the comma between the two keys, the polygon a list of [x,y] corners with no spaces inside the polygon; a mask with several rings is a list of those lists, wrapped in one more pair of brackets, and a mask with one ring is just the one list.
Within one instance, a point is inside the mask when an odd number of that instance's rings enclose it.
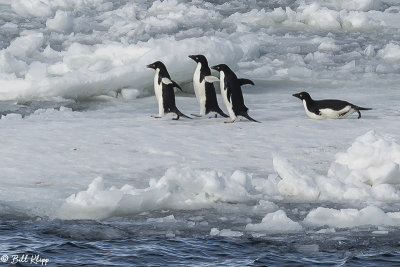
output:
{"label": "penguin lying on its belly on the ice, behind the others", "polygon": [[313,100],[307,92],[293,94],[294,97],[303,101],[304,109],[308,117],[315,120],[323,119],[344,119],[354,112],[361,118],[360,110],[371,110],[372,108],[362,108],[349,102],[336,99]]}

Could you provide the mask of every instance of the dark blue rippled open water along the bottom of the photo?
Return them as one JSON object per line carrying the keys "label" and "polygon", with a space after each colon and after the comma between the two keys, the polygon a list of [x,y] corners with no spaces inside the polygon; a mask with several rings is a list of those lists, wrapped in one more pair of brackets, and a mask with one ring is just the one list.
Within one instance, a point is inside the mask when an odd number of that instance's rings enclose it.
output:
{"label": "dark blue rippled open water along the bottom of the photo", "polygon": [[[175,236],[166,233],[175,230]],[[61,221],[2,219],[1,266],[400,266],[400,231],[368,229],[213,237],[193,228],[143,220]],[[24,263],[11,264],[13,255]],[[14,256],[15,257],[15,256]],[[1,258],[4,260],[4,258]]]}

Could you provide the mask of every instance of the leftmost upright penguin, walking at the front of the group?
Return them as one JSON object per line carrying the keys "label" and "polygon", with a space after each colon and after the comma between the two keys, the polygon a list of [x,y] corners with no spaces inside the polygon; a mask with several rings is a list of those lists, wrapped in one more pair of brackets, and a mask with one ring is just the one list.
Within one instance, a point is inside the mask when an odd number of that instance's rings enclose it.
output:
{"label": "leftmost upright penguin, walking at the front of the group", "polygon": [[177,87],[181,91],[182,88],[176,82],[171,80],[164,63],[156,61],[146,67],[156,70],[156,74],[154,75],[154,93],[158,102],[158,115],[151,116],[153,118],[161,118],[165,114],[175,113],[177,117],[173,118],[173,120],[179,120],[179,117],[181,116],[191,119],[180,112],[176,107],[174,87]]}

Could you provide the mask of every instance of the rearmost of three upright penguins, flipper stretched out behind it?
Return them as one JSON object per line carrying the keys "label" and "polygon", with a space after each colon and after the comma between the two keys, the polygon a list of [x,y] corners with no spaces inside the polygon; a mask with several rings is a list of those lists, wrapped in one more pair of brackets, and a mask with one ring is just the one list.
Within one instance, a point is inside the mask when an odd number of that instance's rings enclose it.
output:
{"label": "rearmost of three upright penguins, flipper stretched out behind it", "polygon": [[230,121],[225,121],[225,123],[235,122],[236,119],[241,117],[259,122],[249,116],[249,109],[244,104],[243,93],[240,88],[242,85],[254,85],[254,83],[248,79],[238,79],[236,74],[225,64],[212,66],[211,68],[219,72],[221,95],[231,118]]}

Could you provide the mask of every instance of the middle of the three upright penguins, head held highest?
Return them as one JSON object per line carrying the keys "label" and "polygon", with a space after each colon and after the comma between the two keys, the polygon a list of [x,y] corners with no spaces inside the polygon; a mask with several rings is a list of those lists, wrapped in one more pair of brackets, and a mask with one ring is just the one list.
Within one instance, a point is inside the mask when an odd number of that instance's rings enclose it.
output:
{"label": "middle of the three upright penguins, head held highest", "polygon": [[212,112],[217,117],[217,114],[227,118],[221,108],[218,106],[217,95],[213,82],[218,81],[211,76],[211,70],[208,67],[207,58],[203,55],[190,55],[189,58],[197,62],[196,70],[193,74],[193,87],[197,101],[200,104],[200,113],[192,114],[196,117],[201,117]]}

